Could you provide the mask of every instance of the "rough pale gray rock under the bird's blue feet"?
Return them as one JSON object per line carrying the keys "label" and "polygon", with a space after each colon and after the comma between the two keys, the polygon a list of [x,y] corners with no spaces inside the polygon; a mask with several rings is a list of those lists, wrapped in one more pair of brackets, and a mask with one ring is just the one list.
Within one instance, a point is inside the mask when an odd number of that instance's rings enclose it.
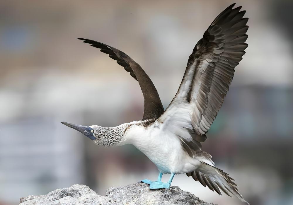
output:
{"label": "rough pale gray rock under the bird's blue feet", "polygon": [[136,183],[126,187],[110,187],[106,196],[100,196],[88,186],[74,184],[56,189],[46,195],[28,196],[20,205],[214,205],[200,200],[179,187],[150,190],[148,184]]}

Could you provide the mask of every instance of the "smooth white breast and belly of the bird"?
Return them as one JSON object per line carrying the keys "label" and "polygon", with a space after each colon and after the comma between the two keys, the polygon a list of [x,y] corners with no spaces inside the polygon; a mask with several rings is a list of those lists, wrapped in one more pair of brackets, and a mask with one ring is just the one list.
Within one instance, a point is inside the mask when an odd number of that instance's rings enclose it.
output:
{"label": "smooth white breast and belly of the bird", "polygon": [[183,150],[180,139],[171,133],[163,133],[159,128],[134,127],[129,134],[133,136],[128,143],[136,146],[164,174],[191,172],[199,165],[198,160]]}

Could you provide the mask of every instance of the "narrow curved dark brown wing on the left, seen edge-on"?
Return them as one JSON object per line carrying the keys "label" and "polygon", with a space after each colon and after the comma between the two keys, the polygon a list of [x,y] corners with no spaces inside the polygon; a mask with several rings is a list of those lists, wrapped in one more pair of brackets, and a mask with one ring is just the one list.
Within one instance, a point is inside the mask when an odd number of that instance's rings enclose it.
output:
{"label": "narrow curved dark brown wing on the left, seen edge-on", "polygon": [[124,52],[114,47],[93,40],[84,38],[78,39],[83,40],[84,43],[91,44],[93,47],[100,48],[100,51],[103,53],[109,54],[110,58],[116,60],[119,65],[123,66],[124,69],[139,82],[142,94],[144,95],[144,116],[142,120],[157,119],[164,112],[156,87],[139,64]]}

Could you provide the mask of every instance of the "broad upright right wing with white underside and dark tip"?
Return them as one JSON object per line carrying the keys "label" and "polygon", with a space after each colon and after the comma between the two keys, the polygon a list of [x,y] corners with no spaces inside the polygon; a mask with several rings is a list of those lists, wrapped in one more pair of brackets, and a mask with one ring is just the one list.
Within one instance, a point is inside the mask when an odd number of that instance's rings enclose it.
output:
{"label": "broad upright right wing with white underside and dark tip", "polygon": [[[247,44],[248,18],[241,7],[226,8],[190,55],[179,90],[163,115],[163,127],[178,135],[192,156],[205,141]],[[239,12],[240,11],[240,12]]]}

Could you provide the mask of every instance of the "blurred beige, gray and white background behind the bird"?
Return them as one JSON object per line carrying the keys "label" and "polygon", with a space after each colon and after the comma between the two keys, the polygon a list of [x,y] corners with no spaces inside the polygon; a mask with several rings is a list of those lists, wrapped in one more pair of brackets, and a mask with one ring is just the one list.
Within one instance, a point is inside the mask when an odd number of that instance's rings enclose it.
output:
{"label": "blurred beige, gray and white background behind the bird", "polygon": [[[76,38],[130,55],[166,108],[193,47],[232,3],[1,0],[0,204],[77,183],[104,195],[108,187],[156,179],[156,166],[134,146],[96,147],[60,123],[114,127],[143,114],[138,82]],[[236,6],[247,10],[249,46],[203,150],[251,205],[293,204],[293,1]],[[186,175],[172,185],[207,202],[242,204]]]}

